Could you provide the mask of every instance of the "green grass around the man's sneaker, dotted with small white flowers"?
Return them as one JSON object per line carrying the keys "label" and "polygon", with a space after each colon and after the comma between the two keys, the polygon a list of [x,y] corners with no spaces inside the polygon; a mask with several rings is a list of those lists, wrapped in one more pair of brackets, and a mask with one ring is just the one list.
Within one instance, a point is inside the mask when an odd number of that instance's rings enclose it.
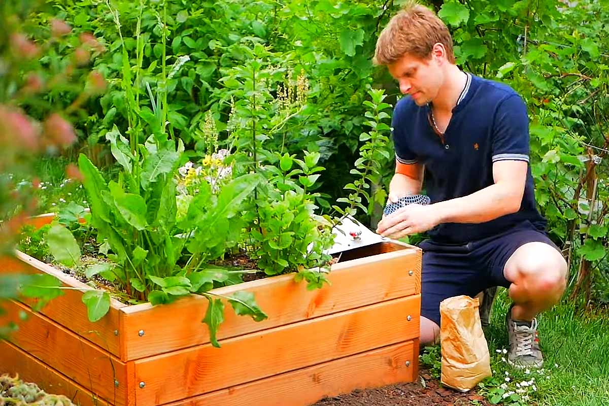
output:
{"label": "green grass around the man's sneaker, dotted with small white flowers", "polygon": [[[521,371],[510,367],[502,352],[508,348],[505,313],[510,303],[507,290],[500,288],[485,332],[493,376],[482,382],[480,393],[493,403],[514,406],[609,405],[609,312],[585,313],[565,298],[539,315],[544,368]],[[424,363],[432,364],[435,359],[438,366],[439,351],[434,348],[426,354],[431,357],[422,357]],[[532,385],[527,385],[532,379]],[[526,386],[516,385],[523,381]],[[520,393],[504,399],[506,391]]]}

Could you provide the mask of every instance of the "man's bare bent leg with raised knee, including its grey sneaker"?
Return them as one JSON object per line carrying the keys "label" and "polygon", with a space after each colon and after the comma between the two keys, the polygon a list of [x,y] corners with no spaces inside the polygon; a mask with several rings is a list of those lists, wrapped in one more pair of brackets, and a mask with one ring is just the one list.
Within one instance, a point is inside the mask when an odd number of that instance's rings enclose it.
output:
{"label": "man's bare bent leg with raised knee, including its grey sneaker", "polygon": [[505,279],[514,304],[507,314],[510,340],[508,363],[540,368],[543,355],[535,316],[557,304],[566,287],[567,265],[558,250],[544,242],[521,245],[505,263]]}

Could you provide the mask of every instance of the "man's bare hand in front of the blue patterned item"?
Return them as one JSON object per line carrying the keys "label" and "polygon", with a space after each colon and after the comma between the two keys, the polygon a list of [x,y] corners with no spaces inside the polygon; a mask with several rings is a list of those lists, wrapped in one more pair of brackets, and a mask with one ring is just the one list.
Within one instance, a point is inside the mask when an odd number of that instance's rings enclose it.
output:
{"label": "man's bare hand in front of the blue patterned item", "polygon": [[410,234],[423,233],[440,223],[434,205],[408,205],[392,215],[384,216],[376,233],[398,239]]}

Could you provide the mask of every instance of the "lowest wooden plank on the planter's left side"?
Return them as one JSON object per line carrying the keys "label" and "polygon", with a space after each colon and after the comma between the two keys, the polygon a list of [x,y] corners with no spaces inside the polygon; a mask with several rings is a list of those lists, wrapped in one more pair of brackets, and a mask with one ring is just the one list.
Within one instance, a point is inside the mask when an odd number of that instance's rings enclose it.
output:
{"label": "lowest wooden plank on the planter's left side", "polygon": [[46,393],[63,394],[79,406],[111,406],[55,369],[38,361],[22,349],[0,340],[0,375],[9,374],[33,382]]}

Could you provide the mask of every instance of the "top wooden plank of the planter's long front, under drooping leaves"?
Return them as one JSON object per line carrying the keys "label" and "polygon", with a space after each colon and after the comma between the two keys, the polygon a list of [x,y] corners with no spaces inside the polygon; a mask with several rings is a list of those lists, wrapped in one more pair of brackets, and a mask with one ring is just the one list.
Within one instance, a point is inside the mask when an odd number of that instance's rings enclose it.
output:
{"label": "top wooden plank of the planter's long front, under drooping leaves", "polygon": [[[252,292],[261,309],[269,315],[267,320],[256,323],[235,315],[227,304],[219,339],[415,295],[421,292],[420,275],[421,250],[405,248],[335,264],[328,274],[331,285],[322,289],[307,290],[306,282],[295,282],[294,275],[217,289],[214,292],[227,296],[238,290]],[[169,305],[138,304],[122,308],[125,313],[124,329],[121,330],[122,360],[141,359],[208,343],[208,328],[200,323],[207,305],[203,296],[193,295]],[[141,330],[144,335],[138,334]]]}

